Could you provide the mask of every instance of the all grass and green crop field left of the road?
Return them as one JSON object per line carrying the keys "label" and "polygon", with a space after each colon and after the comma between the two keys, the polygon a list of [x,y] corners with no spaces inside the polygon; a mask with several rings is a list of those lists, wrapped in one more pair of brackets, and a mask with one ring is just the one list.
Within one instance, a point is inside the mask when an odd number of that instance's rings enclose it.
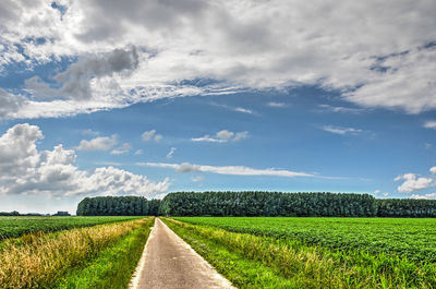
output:
{"label": "all grass and green crop field left of the road", "polygon": [[[21,218],[4,219],[25,227],[29,218]],[[34,232],[0,242],[0,288],[126,288],[154,217],[37,221],[41,226],[33,224]]]}

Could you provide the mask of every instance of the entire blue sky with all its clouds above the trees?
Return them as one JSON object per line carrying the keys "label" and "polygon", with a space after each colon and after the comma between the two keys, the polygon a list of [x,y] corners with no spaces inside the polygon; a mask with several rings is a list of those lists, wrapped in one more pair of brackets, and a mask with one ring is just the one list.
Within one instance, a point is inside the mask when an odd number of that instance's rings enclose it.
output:
{"label": "entire blue sky with all its clouds above the trees", "polygon": [[436,198],[434,0],[3,0],[0,210]]}

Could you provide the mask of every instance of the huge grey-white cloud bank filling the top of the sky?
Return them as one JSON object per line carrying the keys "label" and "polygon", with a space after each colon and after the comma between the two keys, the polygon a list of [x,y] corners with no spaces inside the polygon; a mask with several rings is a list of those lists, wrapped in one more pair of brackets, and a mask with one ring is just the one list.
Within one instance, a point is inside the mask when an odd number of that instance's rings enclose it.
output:
{"label": "huge grey-white cloud bank filling the top of the sky", "polygon": [[[3,117],[65,116],[164,97],[300,85],[337,89],[364,107],[436,109],[433,0],[311,5],[62,0],[55,7],[5,0],[0,5],[0,71],[78,59],[55,79],[60,87],[39,79],[27,83],[36,96],[55,93],[62,106],[32,98],[19,113]],[[123,72],[130,77],[118,75]]]}

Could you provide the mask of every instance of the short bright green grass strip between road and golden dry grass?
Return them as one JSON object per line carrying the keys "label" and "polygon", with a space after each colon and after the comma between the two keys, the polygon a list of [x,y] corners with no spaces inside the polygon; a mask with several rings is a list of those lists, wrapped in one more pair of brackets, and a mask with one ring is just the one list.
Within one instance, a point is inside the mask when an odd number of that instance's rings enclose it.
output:
{"label": "short bright green grass strip between road and golden dry grass", "polygon": [[95,258],[69,272],[53,288],[126,288],[153,224],[154,218],[148,219]]}

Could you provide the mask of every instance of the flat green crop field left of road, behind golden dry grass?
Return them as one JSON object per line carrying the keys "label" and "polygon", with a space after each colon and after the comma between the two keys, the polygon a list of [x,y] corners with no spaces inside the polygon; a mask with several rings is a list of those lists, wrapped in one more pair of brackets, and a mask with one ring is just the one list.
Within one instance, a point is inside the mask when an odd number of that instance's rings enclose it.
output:
{"label": "flat green crop field left of road, behind golden dry grass", "polygon": [[136,217],[0,217],[0,240],[36,231],[58,231]]}

